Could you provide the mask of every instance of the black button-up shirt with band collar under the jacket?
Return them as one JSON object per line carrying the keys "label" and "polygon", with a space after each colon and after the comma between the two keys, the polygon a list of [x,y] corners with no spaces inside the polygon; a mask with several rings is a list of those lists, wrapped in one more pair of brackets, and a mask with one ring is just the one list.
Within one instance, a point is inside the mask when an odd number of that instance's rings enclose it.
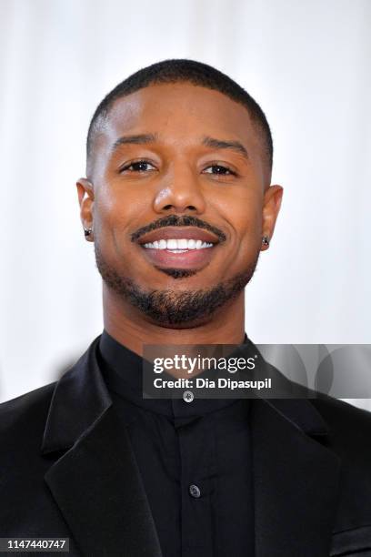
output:
{"label": "black button-up shirt with band collar under the jacket", "polygon": [[143,399],[139,355],[104,330],[98,357],[164,557],[254,555],[249,400]]}

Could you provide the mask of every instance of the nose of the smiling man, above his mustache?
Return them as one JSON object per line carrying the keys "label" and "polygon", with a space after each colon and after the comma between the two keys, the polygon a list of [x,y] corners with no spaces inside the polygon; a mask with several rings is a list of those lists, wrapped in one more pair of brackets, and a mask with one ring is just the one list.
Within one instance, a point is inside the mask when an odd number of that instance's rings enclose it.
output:
{"label": "nose of the smiling man, above his mustache", "polygon": [[206,200],[196,172],[184,164],[174,167],[156,192],[154,209],[161,214],[204,213]]}

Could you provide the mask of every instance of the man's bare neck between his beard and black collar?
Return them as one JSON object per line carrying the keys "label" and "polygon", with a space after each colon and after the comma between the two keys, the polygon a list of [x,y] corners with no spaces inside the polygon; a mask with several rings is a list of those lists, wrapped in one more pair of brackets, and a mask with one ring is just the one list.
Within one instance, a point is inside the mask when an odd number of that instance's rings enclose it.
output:
{"label": "man's bare neck between his beard and black collar", "polygon": [[241,344],[245,336],[245,292],[242,290],[205,322],[175,329],[146,319],[103,283],[103,316],[108,334],[140,356],[144,344]]}

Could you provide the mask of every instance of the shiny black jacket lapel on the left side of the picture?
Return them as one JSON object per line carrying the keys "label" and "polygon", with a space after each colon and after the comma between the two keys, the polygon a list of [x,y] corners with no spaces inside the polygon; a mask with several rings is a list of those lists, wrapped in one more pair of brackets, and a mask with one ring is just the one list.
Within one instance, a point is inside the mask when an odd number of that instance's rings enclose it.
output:
{"label": "shiny black jacket lapel on the left side of the picture", "polygon": [[45,481],[84,555],[161,557],[135,456],[97,365],[98,339],[55,387],[43,453],[67,451]]}

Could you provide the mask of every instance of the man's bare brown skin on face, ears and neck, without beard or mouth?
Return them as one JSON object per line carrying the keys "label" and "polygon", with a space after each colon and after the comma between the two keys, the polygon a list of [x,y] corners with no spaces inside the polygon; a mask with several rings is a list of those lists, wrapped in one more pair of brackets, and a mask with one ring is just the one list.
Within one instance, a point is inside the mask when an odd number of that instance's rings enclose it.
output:
{"label": "man's bare brown skin on face, ears and neck, without beard or mouth", "polygon": [[[157,138],[112,150],[119,137],[137,134]],[[203,137],[238,141],[248,157],[206,147]],[[122,171],[138,159],[150,166]],[[236,174],[217,173],[216,166]],[[177,293],[208,289],[256,265],[256,255],[267,249],[263,235],[273,236],[283,195],[282,187],[270,185],[262,139],[245,106],[187,83],[147,86],[116,100],[95,139],[87,177],[76,187],[83,226],[94,230],[87,239],[95,241],[109,265],[141,289]],[[168,276],[131,241],[136,230],[167,215],[195,216],[226,236],[192,276]],[[143,344],[239,344],[245,334],[244,290],[185,327],[148,318],[105,281],[103,309],[108,333],[140,355]]]}

